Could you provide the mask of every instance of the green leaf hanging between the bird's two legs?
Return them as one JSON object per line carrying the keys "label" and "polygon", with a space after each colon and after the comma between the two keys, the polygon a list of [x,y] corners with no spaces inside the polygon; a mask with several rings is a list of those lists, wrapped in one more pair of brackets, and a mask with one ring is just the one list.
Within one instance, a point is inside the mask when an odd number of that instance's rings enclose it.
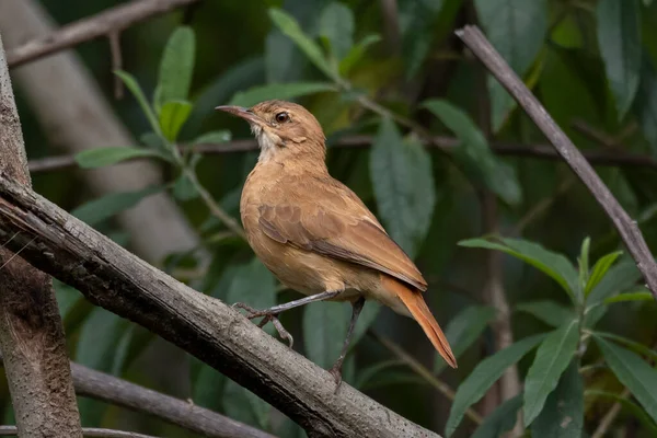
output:
{"label": "green leaf hanging between the bird's two legs", "polygon": [[350,306],[342,302],[311,302],[303,310],[303,341],[308,358],[330,368],[343,347],[349,324]]}

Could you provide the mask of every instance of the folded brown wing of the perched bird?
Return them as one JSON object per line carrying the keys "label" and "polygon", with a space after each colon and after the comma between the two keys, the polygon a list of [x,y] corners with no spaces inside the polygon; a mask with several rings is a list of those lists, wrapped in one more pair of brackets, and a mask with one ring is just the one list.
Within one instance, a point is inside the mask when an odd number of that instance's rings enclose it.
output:
{"label": "folded brown wing of the perched bird", "polygon": [[258,222],[267,237],[427,289],[415,264],[348,187],[333,178],[306,183],[260,205]]}

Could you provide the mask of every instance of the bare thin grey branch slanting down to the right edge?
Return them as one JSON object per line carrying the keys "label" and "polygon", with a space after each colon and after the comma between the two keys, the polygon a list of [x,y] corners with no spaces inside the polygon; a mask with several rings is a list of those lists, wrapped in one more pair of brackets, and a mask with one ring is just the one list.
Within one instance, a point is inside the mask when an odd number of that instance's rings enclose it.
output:
{"label": "bare thin grey branch slanting down to the right edge", "polygon": [[657,300],[657,264],[636,222],[630,218],[630,215],[621,207],[609,188],[596,174],[596,171],[586,161],[586,158],[584,158],[577,147],[573,145],[564,131],[556,125],[535,96],[525,87],[522,81],[509,68],[502,56],[499,56],[479,27],[465,26],[457,31],[457,35],[507,89],[543,131],[554,146],[554,149],[556,149],[560,155],[562,155],[588,187],[619,230],[623,242],[625,242],[625,246],[636,261],[636,266],[647,283],[647,288],[650,289],[650,292],[653,292],[653,296]]}

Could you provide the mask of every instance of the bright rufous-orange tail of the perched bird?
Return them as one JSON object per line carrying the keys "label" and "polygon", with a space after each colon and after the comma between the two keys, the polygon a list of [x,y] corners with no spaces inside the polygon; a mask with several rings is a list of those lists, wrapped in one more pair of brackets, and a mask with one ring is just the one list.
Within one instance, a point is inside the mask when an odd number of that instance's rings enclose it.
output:
{"label": "bright rufous-orange tail of the perched bird", "polygon": [[422,292],[412,290],[404,284],[387,275],[382,275],[381,280],[385,289],[396,293],[396,296],[402,300],[404,306],[408,309],[422,330],[424,330],[425,334],[429,341],[431,341],[431,344],[434,344],[434,347],[436,347],[445,361],[450,367],[457,368],[457,359],[451,351],[449,342],[447,341],[447,337],[445,337],[445,333],[442,333],[438,322],[427,307]]}

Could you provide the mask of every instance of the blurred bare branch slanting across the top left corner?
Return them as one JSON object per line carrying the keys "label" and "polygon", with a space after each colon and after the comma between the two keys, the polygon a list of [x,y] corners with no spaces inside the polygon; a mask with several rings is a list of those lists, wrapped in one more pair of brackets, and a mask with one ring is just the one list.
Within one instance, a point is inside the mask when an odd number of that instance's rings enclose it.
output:
{"label": "blurred bare branch slanting across the top left corner", "polygon": [[197,1],[140,0],[122,4],[64,26],[50,35],[32,39],[13,50],[8,50],[7,61],[11,68],[15,68],[80,43],[116,34],[137,22]]}

